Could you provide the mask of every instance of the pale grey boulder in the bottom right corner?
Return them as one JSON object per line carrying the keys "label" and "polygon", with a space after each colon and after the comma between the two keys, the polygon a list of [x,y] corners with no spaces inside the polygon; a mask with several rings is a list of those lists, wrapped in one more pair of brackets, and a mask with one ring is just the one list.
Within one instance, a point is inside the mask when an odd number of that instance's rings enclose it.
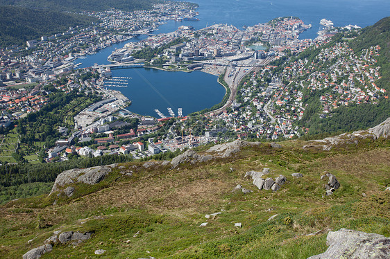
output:
{"label": "pale grey boulder in the bottom right corner", "polygon": [[329,232],[326,240],[328,250],[308,259],[384,259],[390,256],[390,238],[384,235],[340,229]]}

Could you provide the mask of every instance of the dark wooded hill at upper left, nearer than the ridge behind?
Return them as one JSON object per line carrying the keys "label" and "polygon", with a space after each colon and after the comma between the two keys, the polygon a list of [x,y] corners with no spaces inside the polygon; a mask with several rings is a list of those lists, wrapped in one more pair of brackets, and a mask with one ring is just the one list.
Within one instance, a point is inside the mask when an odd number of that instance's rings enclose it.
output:
{"label": "dark wooded hill at upper left, nearer than the ridge behind", "polygon": [[0,8],[0,46],[24,44],[42,35],[60,33],[70,26],[91,24],[96,19],[46,10],[30,10],[15,6]]}

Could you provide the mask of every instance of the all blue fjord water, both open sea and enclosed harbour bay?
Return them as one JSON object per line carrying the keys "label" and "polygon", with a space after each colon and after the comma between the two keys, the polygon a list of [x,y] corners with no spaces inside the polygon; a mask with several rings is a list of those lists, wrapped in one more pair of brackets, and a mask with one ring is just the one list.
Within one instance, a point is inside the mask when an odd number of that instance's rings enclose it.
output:
{"label": "all blue fjord water, both open sea and enclosed harbour bay", "polygon": [[[275,17],[295,16],[305,24],[312,24],[312,28],[300,35],[300,39],[316,37],[319,30],[319,21],[330,19],[334,26],[353,24],[366,27],[375,24],[389,15],[389,0],[191,0],[198,3],[199,21],[168,21],[160,26],[158,33],[169,33],[181,25],[194,26],[195,29],[204,28],[212,24],[232,24],[237,28],[265,23]],[[134,42],[145,37],[130,39]],[[108,64],[107,57],[115,48],[121,48],[127,42],[115,44],[86,59],[80,67],[97,64]],[[138,72],[138,73],[137,73]],[[113,76],[130,76],[131,87],[119,88],[133,105],[130,111],[138,114],[157,116],[153,109],[160,109],[167,114],[167,107],[172,109],[183,107],[183,114],[198,111],[221,101],[223,87],[217,83],[217,77],[205,73],[166,72],[153,69],[121,69],[113,70]],[[145,83],[143,75],[151,84]],[[137,76],[139,79],[137,79]],[[155,90],[156,91],[155,91]]]}

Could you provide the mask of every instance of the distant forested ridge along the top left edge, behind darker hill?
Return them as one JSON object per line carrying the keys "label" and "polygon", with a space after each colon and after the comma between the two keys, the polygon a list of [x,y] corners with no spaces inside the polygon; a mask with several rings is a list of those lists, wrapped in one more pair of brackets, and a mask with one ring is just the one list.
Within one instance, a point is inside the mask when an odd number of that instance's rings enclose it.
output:
{"label": "distant forested ridge along the top left edge, behind darker hill", "polygon": [[0,6],[23,6],[60,12],[101,11],[110,8],[132,11],[149,9],[157,2],[157,0],[0,0]]}

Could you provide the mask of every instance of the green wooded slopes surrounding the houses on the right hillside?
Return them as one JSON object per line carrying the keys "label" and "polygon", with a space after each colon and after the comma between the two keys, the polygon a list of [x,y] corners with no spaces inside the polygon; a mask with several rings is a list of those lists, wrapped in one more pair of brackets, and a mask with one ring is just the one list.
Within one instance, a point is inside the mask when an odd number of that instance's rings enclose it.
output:
{"label": "green wooded slopes surrounding the houses on the right hillside", "polygon": [[[342,35],[335,36],[328,46],[342,41]],[[378,87],[390,92],[390,17],[381,19],[373,26],[368,26],[359,35],[349,42],[356,55],[359,56],[363,50],[371,46],[380,46],[380,55],[375,57],[376,66],[380,66],[382,78],[375,81]],[[305,51],[300,58],[316,57],[321,49],[316,51]],[[364,54],[364,53],[363,53]],[[361,105],[341,106],[334,109],[327,118],[319,118],[312,114],[319,111],[319,101],[316,95],[321,95],[321,91],[314,91],[310,98],[306,100],[309,105],[306,115],[300,120],[301,127],[309,128],[310,134],[334,134],[334,132],[346,132],[351,130],[362,130],[373,127],[390,114],[389,99],[380,98],[377,104],[363,103]],[[314,101],[316,99],[316,101]],[[310,114],[312,112],[312,114]]]}

